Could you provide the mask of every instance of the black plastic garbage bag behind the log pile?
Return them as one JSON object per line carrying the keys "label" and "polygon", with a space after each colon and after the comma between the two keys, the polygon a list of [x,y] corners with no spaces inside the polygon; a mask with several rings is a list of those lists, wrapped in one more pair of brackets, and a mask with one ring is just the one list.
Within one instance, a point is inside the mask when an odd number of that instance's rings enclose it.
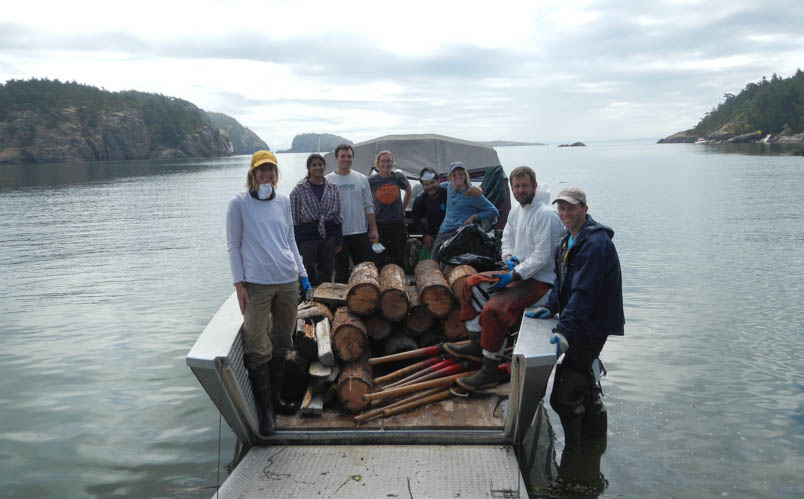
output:
{"label": "black plastic garbage bag behind the log pile", "polygon": [[450,265],[471,265],[478,272],[504,267],[500,255],[502,241],[478,225],[463,225],[439,250],[441,261]]}

